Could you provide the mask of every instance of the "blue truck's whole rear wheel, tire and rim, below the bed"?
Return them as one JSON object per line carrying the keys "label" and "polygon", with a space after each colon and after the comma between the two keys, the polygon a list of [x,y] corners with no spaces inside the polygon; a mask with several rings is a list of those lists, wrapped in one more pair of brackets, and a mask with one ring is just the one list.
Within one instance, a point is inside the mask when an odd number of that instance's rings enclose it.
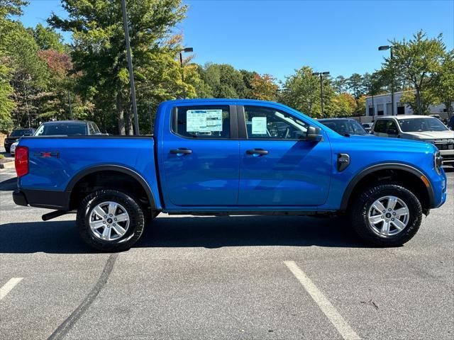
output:
{"label": "blue truck's whole rear wheel, tire and rim, below the bed", "polygon": [[135,198],[106,189],[89,194],[77,210],[77,229],[93,249],[130,249],[143,233],[145,218]]}

